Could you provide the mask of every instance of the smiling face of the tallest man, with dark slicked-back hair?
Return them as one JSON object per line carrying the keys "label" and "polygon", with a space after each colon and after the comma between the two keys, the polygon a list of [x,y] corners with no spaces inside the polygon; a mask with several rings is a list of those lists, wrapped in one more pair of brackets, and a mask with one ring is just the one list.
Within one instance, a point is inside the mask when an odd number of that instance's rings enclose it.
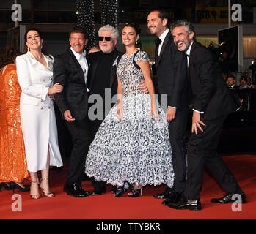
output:
{"label": "smiling face of the tallest man, with dark slicked-back hair", "polygon": [[159,18],[159,12],[150,12],[147,16],[147,28],[150,30],[150,34],[156,37],[160,37],[161,34],[167,29],[168,20],[161,20]]}

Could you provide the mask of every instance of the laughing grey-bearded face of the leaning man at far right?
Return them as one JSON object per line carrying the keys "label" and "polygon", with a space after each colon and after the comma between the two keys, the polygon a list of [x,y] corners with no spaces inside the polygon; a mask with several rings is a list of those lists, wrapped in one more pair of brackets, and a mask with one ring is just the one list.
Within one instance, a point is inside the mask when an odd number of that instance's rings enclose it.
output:
{"label": "laughing grey-bearded face of the leaning man at far right", "polygon": [[172,37],[175,45],[178,47],[178,50],[186,51],[193,41],[194,32],[191,31],[191,34],[188,34],[186,26],[180,26],[172,30]]}

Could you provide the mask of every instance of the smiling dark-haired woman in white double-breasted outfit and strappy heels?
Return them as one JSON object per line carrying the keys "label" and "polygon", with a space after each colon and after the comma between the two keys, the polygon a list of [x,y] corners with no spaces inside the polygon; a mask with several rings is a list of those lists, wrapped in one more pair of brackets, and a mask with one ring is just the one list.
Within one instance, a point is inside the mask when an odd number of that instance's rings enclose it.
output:
{"label": "smiling dark-haired woman in white double-breasted outfit and strappy heels", "polygon": [[37,171],[41,170],[40,188],[45,197],[54,197],[49,189],[49,165],[60,167],[56,119],[52,95],[62,91],[53,83],[53,58],[43,48],[38,29],[25,34],[27,53],[16,58],[18,82],[21,86],[21,128],[28,170],[32,178],[31,198],[40,197]]}

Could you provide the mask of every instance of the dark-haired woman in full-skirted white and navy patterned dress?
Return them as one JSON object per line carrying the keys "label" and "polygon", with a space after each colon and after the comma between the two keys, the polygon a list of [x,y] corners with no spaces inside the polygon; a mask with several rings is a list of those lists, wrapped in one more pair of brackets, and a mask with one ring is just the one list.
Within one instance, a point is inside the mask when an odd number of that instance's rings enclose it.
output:
{"label": "dark-haired woman in full-skirted white and navy patterned dress", "polygon": [[[126,53],[114,61],[117,66],[117,105],[100,125],[86,160],[88,176],[117,185],[134,184],[128,197],[142,195],[146,184],[173,185],[172,150],[165,115],[154,99],[147,53],[136,49],[139,29],[128,23],[122,29]],[[137,86],[145,80],[149,94]]]}

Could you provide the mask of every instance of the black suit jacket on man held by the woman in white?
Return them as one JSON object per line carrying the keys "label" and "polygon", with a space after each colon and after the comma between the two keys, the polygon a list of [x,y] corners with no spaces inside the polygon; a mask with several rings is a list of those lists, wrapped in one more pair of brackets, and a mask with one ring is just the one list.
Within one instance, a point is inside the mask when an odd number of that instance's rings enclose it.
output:
{"label": "black suit jacket on man held by the woman in white", "polygon": [[88,94],[84,72],[70,48],[54,59],[54,83],[63,86],[62,93],[54,94],[62,115],[70,110],[76,120],[87,116]]}

